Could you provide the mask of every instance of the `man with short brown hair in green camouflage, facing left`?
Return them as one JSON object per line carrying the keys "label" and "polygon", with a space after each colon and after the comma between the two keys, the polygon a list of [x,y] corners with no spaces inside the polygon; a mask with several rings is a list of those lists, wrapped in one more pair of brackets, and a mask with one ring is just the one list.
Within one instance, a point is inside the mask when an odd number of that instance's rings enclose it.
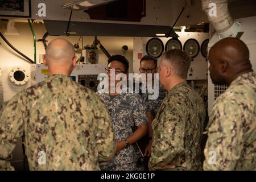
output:
{"label": "man with short brown hair in green camouflage, facing left", "polygon": [[152,123],[151,170],[201,169],[205,109],[200,95],[185,81],[190,64],[190,57],[179,49],[164,53],[160,62],[160,82],[169,92]]}

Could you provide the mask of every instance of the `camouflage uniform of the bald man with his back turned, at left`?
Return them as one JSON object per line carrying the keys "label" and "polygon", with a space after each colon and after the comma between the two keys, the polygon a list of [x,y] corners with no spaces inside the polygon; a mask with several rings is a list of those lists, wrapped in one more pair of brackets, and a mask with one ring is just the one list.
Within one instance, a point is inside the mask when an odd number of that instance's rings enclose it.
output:
{"label": "camouflage uniform of the bald man with his back turned, at left", "polygon": [[30,170],[100,170],[98,162],[110,160],[115,151],[106,107],[69,76],[49,76],[5,103],[0,169],[13,169],[6,159],[23,132]]}

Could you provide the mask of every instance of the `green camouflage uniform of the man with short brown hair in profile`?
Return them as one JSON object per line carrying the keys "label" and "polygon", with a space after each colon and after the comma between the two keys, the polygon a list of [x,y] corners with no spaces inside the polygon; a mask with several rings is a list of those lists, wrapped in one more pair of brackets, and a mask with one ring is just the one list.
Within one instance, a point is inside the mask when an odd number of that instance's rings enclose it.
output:
{"label": "green camouflage uniform of the man with short brown hair in profile", "polygon": [[148,167],[174,170],[201,169],[201,137],[205,109],[199,94],[181,82],[164,98],[152,122],[153,143]]}

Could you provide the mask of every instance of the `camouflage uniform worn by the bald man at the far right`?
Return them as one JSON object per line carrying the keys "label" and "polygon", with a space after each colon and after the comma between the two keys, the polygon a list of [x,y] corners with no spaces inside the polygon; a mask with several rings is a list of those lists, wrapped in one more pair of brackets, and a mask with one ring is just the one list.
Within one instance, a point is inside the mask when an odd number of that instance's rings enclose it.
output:
{"label": "camouflage uniform worn by the bald man at the far right", "polygon": [[207,133],[208,140],[204,150],[205,170],[255,170],[254,72],[236,78],[225,93],[217,98],[210,112]]}

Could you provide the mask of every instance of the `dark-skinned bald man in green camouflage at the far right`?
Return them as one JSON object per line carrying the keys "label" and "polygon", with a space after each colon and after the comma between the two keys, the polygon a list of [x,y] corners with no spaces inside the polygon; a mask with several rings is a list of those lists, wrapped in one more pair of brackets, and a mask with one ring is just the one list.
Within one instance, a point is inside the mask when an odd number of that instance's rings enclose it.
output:
{"label": "dark-skinned bald man in green camouflage at the far right", "polygon": [[[228,85],[210,111],[205,170],[256,169],[256,76],[249,49],[225,38],[209,51],[213,84]],[[255,60],[254,60],[255,61]]]}

